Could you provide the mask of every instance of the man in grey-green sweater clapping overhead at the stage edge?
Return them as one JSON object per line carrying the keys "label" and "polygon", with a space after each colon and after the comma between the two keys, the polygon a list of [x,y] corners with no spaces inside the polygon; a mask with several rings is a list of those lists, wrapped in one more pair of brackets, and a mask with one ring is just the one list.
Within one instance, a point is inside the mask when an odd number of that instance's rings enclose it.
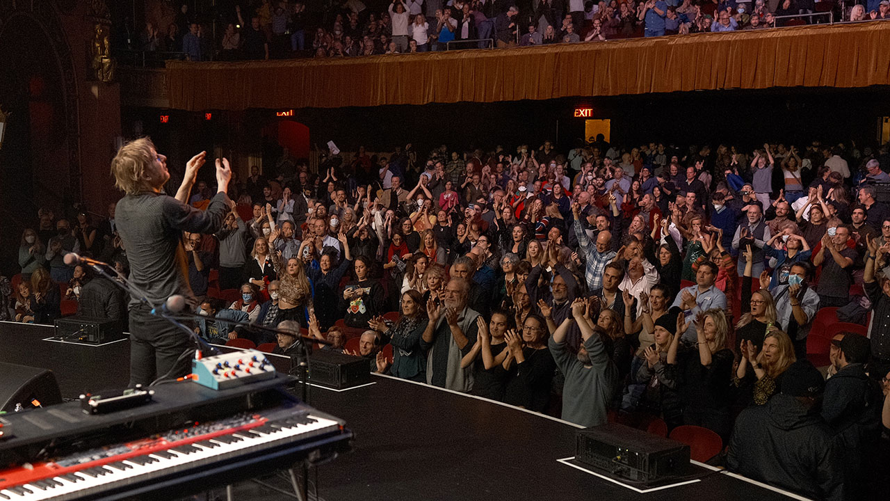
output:
{"label": "man in grey-green sweater clapping overhead at the stage edge", "polygon": [[[618,380],[618,367],[612,362],[608,338],[599,327],[591,327],[584,318],[584,300],[571,304],[574,320],[566,318],[548,342],[550,353],[562,374],[562,419],[581,426],[598,426],[606,422],[606,410]],[[566,343],[570,326],[577,324],[583,342],[578,355],[572,356]]]}

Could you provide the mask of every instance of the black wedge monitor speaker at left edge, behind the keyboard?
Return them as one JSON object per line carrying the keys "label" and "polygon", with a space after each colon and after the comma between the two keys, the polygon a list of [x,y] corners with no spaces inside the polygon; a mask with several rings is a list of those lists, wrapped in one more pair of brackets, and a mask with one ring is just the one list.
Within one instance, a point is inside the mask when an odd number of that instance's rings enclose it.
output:
{"label": "black wedge monitor speaker at left edge, behind the keyboard", "polygon": [[0,411],[12,412],[16,404],[35,407],[61,404],[61,391],[55,374],[48,369],[0,362]]}

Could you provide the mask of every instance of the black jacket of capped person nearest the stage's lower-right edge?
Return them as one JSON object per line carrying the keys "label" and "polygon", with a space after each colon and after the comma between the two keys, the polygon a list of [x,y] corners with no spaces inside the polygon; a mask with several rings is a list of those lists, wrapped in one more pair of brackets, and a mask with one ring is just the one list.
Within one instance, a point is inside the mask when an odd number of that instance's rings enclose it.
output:
{"label": "black jacket of capped person nearest the stage's lower-right edge", "polygon": [[843,452],[816,409],[785,394],[736,419],[730,471],[810,499],[844,499]]}

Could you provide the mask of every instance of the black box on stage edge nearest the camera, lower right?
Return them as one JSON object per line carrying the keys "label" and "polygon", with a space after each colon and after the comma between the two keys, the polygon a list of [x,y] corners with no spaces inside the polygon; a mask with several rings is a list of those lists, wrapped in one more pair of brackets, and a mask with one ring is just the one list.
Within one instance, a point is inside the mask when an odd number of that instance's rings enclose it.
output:
{"label": "black box on stage edge nearest the camera, lower right", "polygon": [[689,446],[623,424],[579,430],[575,459],[622,479],[650,484],[690,473]]}

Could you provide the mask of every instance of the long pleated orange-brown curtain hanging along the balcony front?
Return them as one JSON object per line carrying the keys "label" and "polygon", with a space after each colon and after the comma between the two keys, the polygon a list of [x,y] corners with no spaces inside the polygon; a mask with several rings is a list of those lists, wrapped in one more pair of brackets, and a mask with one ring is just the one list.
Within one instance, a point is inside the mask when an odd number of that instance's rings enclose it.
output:
{"label": "long pleated orange-brown curtain hanging along the balcony front", "polygon": [[890,84],[890,22],[501,50],[168,62],[176,109],[490,103],[570,96]]}

